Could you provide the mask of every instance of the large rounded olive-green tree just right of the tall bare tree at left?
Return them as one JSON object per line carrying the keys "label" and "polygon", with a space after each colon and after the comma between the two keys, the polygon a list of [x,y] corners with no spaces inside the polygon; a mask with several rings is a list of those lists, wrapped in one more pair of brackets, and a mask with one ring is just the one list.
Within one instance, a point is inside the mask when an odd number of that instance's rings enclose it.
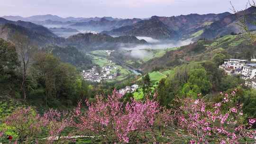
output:
{"label": "large rounded olive-green tree just right of the tall bare tree at left", "polygon": [[[72,99],[76,94],[76,69],[67,63],[61,63],[52,54],[35,54],[33,63],[33,77],[45,89],[46,106],[49,98]],[[71,98],[70,98],[71,97]],[[70,101],[66,101],[71,103]]]}

